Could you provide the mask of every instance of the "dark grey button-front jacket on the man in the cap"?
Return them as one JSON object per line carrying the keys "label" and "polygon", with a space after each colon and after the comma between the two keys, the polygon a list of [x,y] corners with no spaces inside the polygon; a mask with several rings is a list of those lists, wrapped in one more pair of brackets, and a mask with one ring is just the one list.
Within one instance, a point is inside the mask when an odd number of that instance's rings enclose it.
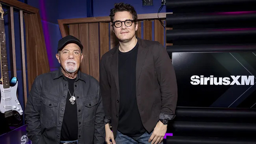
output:
{"label": "dark grey button-front jacket on the man in the cap", "polygon": [[[59,144],[68,94],[68,81],[59,70],[37,76],[25,110],[28,138],[33,144]],[[74,82],[78,144],[103,144],[104,110],[98,81],[78,72]]]}

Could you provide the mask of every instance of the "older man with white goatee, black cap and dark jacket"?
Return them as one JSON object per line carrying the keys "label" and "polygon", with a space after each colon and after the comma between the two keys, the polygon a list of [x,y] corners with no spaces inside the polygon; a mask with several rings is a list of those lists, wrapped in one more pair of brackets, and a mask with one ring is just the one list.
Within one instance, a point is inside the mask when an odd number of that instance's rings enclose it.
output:
{"label": "older man with white goatee, black cap and dark jacket", "polygon": [[34,80],[26,104],[33,144],[102,144],[104,110],[98,81],[79,71],[83,46],[74,36],[58,42],[59,70]]}

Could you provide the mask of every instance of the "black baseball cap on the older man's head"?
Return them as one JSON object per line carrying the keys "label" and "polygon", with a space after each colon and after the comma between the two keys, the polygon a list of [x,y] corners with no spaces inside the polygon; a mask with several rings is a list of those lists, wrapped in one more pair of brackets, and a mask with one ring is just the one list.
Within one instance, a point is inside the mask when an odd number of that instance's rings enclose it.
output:
{"label": "black baseball cap on the older man's head", "polygon": [[64,38],[60,39],[59,42],[58,42],[58,50],[62,50],[62,48],[64,48],[67,44],[70,44],[70,43],[74,43],[74,44],[77,44],[80,49],[81,49],[81,52],[83,50],[83,45],[82,43],[80,42],[80,40],[78,40],[76,37],[74,36],[71,36],[71,35],[68,35],[68,36],[65,36]]}

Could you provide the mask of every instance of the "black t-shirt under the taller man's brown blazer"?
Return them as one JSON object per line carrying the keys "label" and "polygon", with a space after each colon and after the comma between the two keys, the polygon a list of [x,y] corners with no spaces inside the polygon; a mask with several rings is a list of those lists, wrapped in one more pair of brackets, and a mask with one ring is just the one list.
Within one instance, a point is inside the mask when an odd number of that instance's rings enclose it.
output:
{"label": "black t-shirt under the taller man's brown blazer", "polygon": [[132,137],[146,132],[142,125],[136,100],[136,61],[138,42],[129,52],[118,52],[120,92],[118,131]]}

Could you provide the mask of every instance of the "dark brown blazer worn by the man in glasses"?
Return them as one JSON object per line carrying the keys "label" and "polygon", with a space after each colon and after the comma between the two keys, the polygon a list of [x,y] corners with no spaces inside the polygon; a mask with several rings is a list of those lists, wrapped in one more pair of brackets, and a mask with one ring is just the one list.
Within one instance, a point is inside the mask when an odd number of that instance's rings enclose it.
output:
{"label": "dark brown blazer worn by the man in glasses", "polygon": [[[172,120],[177,103],[176,76],[170,57],[159,42],[138,38],[136,98],[144,128],[154,130],[159,118]],[[118,46],[100,62],[100,88],[105,123],[112,124],[116,137],[119,111]]]}

